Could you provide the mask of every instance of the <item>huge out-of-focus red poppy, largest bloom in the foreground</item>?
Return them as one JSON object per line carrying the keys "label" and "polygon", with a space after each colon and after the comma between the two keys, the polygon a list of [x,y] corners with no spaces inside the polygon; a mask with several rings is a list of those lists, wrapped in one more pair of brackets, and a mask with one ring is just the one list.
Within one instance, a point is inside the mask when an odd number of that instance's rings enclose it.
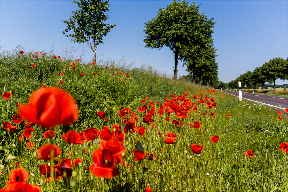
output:
{"label": "huge out-of-focus red poppy, largest bloom in the foreground", "polygon": [[64,90],[53,87],[35,91],[29,104],[21,106],[19,112],[29,122],[46,128],[59,123],[68,125],[78,117],[74,99]]}

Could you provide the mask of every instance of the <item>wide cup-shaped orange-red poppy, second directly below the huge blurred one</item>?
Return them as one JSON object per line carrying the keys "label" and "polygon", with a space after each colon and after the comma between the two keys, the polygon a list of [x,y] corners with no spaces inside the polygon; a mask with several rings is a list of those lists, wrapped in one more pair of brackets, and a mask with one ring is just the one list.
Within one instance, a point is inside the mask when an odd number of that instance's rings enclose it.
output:
{"label": "wide cup-shaped orange-red poppy, second directly below the huge blurred one", "polygon": [[60,155],[62,153],[62,150],[60,147],[58,147],[57,145],[54,144],[46,144],[43,145],[42,147],[40,147],[37,151],[37,155],[40,157],[38,159],[36,159],[36,161],[38,161],[39,159],[43,159],[43,160],[50,160],[51,157],[51,153],[53,154],[53,158]]}

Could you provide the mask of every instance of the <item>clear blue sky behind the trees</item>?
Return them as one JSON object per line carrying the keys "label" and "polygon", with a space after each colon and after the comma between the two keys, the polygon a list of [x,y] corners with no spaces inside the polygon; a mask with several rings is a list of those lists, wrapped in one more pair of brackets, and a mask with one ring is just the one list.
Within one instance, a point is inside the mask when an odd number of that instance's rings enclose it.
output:
{"label": "clear blue sky behind the trees", "polygon": [[[147,63],[173,74],[173,52],[168,47],[145,48],[143,41],[145,22],[157,16],[159,7],[166,8],[171,2],[110,1],[106,22],[116,26],[103,38],[104,44],[97,47],[96,54],[115,60],[125,56],[127,62],[134,60],[137,66]],[[217,22],[213,39],[218,49],[219,81],[228,83],[265,61],[288,56],[288,1],[196,1],[195,4],[201,4],[199,12]],[[76,7],[73,1],[1,0],[1,51],[21,45],[23,51],[53,50],[54,54],[64,56],[61,48],[73,47],[77,50],[75,58],[84,51],[83,59],[91,61],[93,52],[86,43],[74,43],[62,33],[66,28],[62,21],[69,20]],[[178,64],[178,75],[187,75],[186,67],[181,68],[182,62]],[[276,84],[284,83],[287,81],[276,80]]]}

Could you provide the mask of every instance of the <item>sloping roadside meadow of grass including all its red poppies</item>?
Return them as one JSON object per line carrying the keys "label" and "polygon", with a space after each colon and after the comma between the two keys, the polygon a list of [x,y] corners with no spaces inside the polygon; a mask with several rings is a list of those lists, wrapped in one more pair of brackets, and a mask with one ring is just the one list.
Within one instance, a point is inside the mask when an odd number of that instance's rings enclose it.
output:
{"label": "sloping roadside meadow of grass including all its red poppies", "polygon": [[1,191],[288,190],[287,110],[124,58],[0,62]]}

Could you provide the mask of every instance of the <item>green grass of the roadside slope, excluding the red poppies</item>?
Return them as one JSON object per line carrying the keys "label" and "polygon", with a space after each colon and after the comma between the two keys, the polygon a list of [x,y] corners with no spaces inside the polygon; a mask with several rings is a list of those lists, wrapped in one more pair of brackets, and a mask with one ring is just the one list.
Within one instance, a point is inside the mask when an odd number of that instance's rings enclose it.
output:
{"label": "green grass of the roadside slope, excluding the red poppies", "polygon": [[[36,67],[29,69],[32,64]],[[9,100],[0,98],[1,123],[9,121],[18,126],[15,133],[1,128],[1,164],[5,166],[1,170],[1,188],[6,186],[14,163],[19,162],[21,168],[35,175],[30,174],[29,184],[39,185],[43,191],[145,191],[146,186],[153,191],[287,191],[287,154],[278,149],[281,143],[287,142],[287,117],[279,120],[278,114],[266,106],[247,101],[240,103],[233,96],[191,82],[175,82],[150,66],[135,67],[124,60],[98,60],[92,66],[77,62],[74,71],[67,69],[67,65],[72,67],[70,59],[54,59],[49,53],[36,59],[33,53],[1,53],[0,91],[1,94],[12,93]],[[108,69],[105,69],[106,66]],[[65,75],[59,77],[60,73]],[[84,76],[80,77],[80,73]],[[129,74],[129,77],[122,73]],[[58,81],[63,81],[63,86]],[[138,138],[136,132],[125,134],[125,159],[132,169],[125,169],[119,164],[116,167],[120,174],[112,179],[93,176],[89,167],[93,164],[92,154],[99,147],[100,137],[82,145],[70,146],[62,139],[61,125],[55,128],[56,137],[53,139],[44,138],[45,129],[33,126],[35,131],[30,140],[36,143],[36,147],[27,149],[25,144],[28,140],[18,140],[24,130],[24,121],[15,124],[12,116],[18,112],[16,102],[27,103],[29,96],[41,85],[63,88],[73,96],[79,108],[79,117],[71,129],[77,132],[90,127],[101,130],[103,126],[109,126],[111,129],[115,123],[123,128],[119,110],[129,107],[136,112],[139,118],[137,126],[145,126],[148,130],[147,137]],[[178,119],[175,113],[171,114],[170,121],[165,120],[166,113],[160,117],[156,110],[160,105],[154,106],[155,116],[152,118],[156,123],[155,130],[141,122],[145,114],[138,112],[137,108],[143,105],[141,100],[145,96],[148,96],[147,102],[153,100],[155,104],[162,104],[165,98],[172,99],[170,94],[179,96],[184,92],[192,99],[191,102],[195,102],[198,111],[188,112],[189,117],[181,119],[182,127],[172,123],[173,119]],[[217,107],[209,109],[206,104],[199,104],[192,97],[196,94],[202,99],[204,96],[213,97]],[[108,121],[101,121],[96,115],[98,111],[107,113]],[[202,115],[203,112],[207,115]],[[209,115],[211,112],[215,113],[214,117]],[[187,125],[193,125],[194,121],[200,122],[200,129]],[[164,138],[158,136],[159,131],[177,134],[175,143],[164,143]],[[213,144],[211,136],[219,136],[219,142]],[[156,160],[134,161],[131,151],[137,141],[142,142],[145,153],[154,151]],[[69,158],[68,152],[74,150],[71,160],[83,159],[81,167],[72,168],[77,170],[75,177],[43,183],[44,176],[37,164],[43,165],[48,161],[36,161],[36,152],[47,143],[62,148],[60,158]],[[192,144],[203,145],[200,156],[194,155],[190,147]],[[159,151],[160,148],[163,152]],[[83,152],[85,149],[88,153]],[[253,150],[254,158],[245,156],[248,149]],[[16,158],[9,160],[10,154]],[[209,177],[207,173],[214,176]],[[75,187],[72,187],[74,184]]]}

